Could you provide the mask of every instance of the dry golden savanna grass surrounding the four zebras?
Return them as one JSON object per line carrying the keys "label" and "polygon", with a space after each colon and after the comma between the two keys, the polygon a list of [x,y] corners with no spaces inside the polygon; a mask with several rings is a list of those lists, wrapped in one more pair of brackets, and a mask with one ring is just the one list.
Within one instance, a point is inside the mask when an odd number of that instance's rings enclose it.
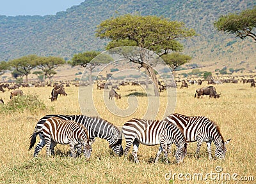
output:
{"label": "dry golden savanna grass surrounding the four zebras", "polygon": [[[203,86],[207,86],[203,82]],[[177,88],[177,102],[175,113],[184,115],[202,115],[216,122],[221,129],[224,139],[232,138],[227,145],[225,161],[208,159],[206,144],[202,145],[200,158],[194,157],[196,143],[189,143],[188,155],[183,164],[175,164],[175,157],[169,155],[170,164],[164,164],[163,155],[158,164],[154,164],[154,158],[158,146],[140,145],[138,156],[140,164],[135,164],[132,156],[128,160],[116,157],[108,148],[108,142],[97,139],[93,144],[93,153],[90,162],[84,157],[71,159],[68,157],[67,145],[56,146],[56,156],[47,158],[45,148],[39,153],[38,158],[33,158],[33,150],[28,151],[29,136],[35,129],[36,122],[47,114],[80,114],[78,87],[65,88],[68,96],[58,97],[58,101],[51,102],[49,94],[51,87],[22,88],[24,94],[36,94],[45,103],[43,110],[1,111],[0,115],[0,183],[255,183],[255,121],[256,121],[256,88],[250,88],[249,84],[224,83],[216,85],[216,91],[221,93],[220,99],[196,99],[195,89],[197,85],[188,88]],[[138,92],[143,92],[140,87],[132,87]],[[89,91],[90,92],[90,91]],[[121,126],[129,118],[140,118],[147,106],[155,108],[154,104],[148,104],[147,97],[138,96],[138,108],[134,114],[127,117],[116,117],[104,107],[102,90],[94,87],[93,97],[95,106],[100,111],[100,116],[109,122]],[[127,94],[131,94],[131,86],[120,87],[118,93],[122,99],[116,100],[120,108],[127,108]],[[10,101],[10,92],[0,94],[5,103]],[[166,97],[166,91],[161,94],[160,101]],[[108,98],[107,98],[108,100]],[[163,100],[164,101],[164,100]],[[0,106],[4,108],[4,106]],[[90,108],[90,106],[89,106]],[[163,117],[165,106],[160,106],[157,118]],[[89,115],[90,114],[86,114]],[[38,139],[37,139],[38,140]],[[125,147],[125,140],[122,145]],[[214,146],[212,148],[214,152]],[[173,146],[175,152],[175,146]],[[131,153],[131,152],[130,152]],[[175,180],[165,180],[166,173],[189,174],[216,173],[216,167],[220,166],[221,173],[230,173],[229,180],[186,180],[180,181],[175,175]],[[220,173],[220,174],[221,174]],[[232,174],[237,173],[237,181],[232,180]],[[253,176],[254,181],[239,181],[241,176]],[[225,179],[225,178],[224,178]],[[252,180],[252,178],[250,179]]]}

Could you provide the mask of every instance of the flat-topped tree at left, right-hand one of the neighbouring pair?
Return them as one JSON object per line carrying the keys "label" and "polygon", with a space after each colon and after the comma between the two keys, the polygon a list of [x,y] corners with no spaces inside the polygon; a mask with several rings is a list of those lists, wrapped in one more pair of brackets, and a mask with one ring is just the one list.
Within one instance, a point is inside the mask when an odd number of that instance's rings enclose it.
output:
{"label": "flat-topped tree at left, right-hand one of the neighbouring pair", "polygon": [[47,77],[49,78],[50,83],[51,78],[54,76],[54,74],[56,74],[56,71],[54,71],[54,69],[63,64],[65,64],[65,60],[60,57],[38,57],[38,59],[36,60],[36,66],[44,73],[44,81]]}

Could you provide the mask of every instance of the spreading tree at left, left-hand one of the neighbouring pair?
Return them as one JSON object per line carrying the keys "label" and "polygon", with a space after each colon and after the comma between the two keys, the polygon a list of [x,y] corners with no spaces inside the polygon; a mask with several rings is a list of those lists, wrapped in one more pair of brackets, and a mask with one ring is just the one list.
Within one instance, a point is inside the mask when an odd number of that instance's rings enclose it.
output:
{"label": "spreading tree at left, left-hand one of the neighbouring pair", "polygon": [[28,83],[28,75],[30,74],[31,69],[36,67],[36,59],[38,59],[38,56],[36,55],[26,55],[19,59],[10,60],[9,64],[14,67],[15,70],[19,71],[19,73],[26,76],[26,83]]}

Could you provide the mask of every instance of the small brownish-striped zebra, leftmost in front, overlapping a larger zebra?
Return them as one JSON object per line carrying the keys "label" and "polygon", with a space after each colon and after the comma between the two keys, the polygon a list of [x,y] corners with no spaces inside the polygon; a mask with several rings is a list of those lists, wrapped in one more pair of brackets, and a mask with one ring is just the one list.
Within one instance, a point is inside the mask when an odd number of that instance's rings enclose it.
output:
{"label": "small brownish-striped zebra, leftmost in front, overlapping a larger zebra", "polygon": [[[84,157],[87,160],[90,159],[92,146],[89,143],[88,132],[82,124],[56,117],[48,118],[42,125],[42,128],[31,135],[29,150],[35,145],[38,134],[42,134],[40,136],[42,147],[46,144],[47,156],[54,155],[53,148],[59,143],[61,145],[69,145],[71,157],[76,158],[76,145],[80,143],[84,147]],[[36,149],[41,150],[42,148],[36,146]],[[37,150],[37,152],[40,152],[40,150]]]}

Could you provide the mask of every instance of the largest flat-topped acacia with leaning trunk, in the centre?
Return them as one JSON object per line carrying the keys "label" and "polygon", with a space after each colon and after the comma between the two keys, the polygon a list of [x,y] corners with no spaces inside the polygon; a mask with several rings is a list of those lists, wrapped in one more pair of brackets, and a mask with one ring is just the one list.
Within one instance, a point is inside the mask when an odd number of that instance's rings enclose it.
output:
{"label": "largest flat-topped acacia with leaning trunk, in the centre", "polygon": [[[104,20],[97,26],[99,38],[111,41],[106,49],[116,46],[138,46],[161,56],[170,51],[182,51],[183,46],[178,39],[195,36],[193,29],[188,29],[183,22],[170,21],[157,16],[123,15]],[[155,95],[159,96],[158,82],[152,66],[147,64],[145,54],[139,59],[129,58],[131,62],[140,64],[155,85]]]}

